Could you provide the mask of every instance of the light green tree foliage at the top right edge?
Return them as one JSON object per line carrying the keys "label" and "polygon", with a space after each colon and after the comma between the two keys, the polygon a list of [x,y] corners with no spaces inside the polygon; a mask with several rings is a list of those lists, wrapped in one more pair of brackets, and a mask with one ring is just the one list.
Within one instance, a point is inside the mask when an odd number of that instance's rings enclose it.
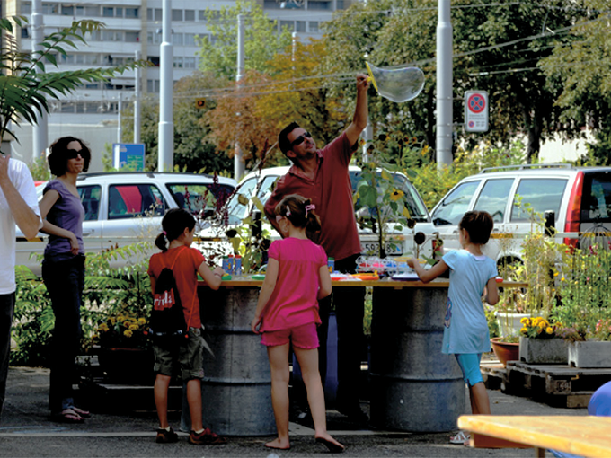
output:
{"label": "light green tree foliage at the top right edge", "polygon": [[562,86],[556,101],[561,119],[576,127],[597,132],[598,145],[590,145],[601,162],[611,160],[611,41],[609,41],[609,0],[584,0],[588,18],[571,29],[569,45],[559,41],[553,53],[539,65],[548,78]]}

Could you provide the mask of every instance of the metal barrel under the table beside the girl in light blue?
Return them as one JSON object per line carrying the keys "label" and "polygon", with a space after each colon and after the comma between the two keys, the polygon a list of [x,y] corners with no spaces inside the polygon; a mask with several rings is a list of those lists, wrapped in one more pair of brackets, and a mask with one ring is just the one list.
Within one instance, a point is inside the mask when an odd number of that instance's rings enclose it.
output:
{"label": "metal barrel under the table beside the girl in light blue", "polygon": [[456,429],[465,383],[441,353],[447,287],[374,288],[371,422],[413,432]]}

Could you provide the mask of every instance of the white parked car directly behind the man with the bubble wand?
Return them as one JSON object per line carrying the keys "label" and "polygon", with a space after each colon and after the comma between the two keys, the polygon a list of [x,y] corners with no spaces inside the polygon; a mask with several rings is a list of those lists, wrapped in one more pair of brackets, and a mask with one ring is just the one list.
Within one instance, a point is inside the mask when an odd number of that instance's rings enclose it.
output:
{"label": "white parked car directly behind the man with the bubble wand", "polygon": [[[275,182],[279,177],[285,175],[288,172],[289,167],[270,167],[268,169],[262,169],[260,172],[251,172],[247,174],[237,189],[234,196],[229,198],[226,204],[227,208],[227,219],[226,226],[231,227],[242,224],[243,219],[246,216],[256,211],[256,207],[252,203],[252,197],[256,196],[261,200],[264,205],[268,198],[270,198]],[[350,166],[350,181],[352,183],[352,190],[356,192],[357,186],[360,179],[360,169],[356,166]],[[413,234],[421,231],[425,225],[428,225],[428,231],[425,233],[432,233],[433,227],[430,224],[429,211],[427,210],[421,195],[413,187],[412,183],[407,179],[403,173],[394,173],[394,181],[397,189],[403,190],[406,200],[407,207],[416,222],[414,229],[403,227],[402,231],[396,231],[394,225],[387,225],[388,233],[390,234],[390,241],[386,243],[386,252],[390,256],[401,256],[401,255],[412,255],[415,252]],[[361,210],[361,205],[357,201],[355,205],[355,211]],[[279,233],[271,226],[267,218],[263,216],[263,225],[270,234],[272,240],[279,238]],[[226,229],[228,227],[223,227]],[[219,237],[223,237],[223,231],[219,231],[218,228],[208,226],[204,228],[199,235],[206,240],[218,240]],[[377,241],[377,235],[372,233],[370,229],[359,228],[359,237],[363,252],[376,253],[379,251],[379,242]],[[431,251],[430,240],[425,242],[421,248],[421,252],[426,253],[430,256]]]}

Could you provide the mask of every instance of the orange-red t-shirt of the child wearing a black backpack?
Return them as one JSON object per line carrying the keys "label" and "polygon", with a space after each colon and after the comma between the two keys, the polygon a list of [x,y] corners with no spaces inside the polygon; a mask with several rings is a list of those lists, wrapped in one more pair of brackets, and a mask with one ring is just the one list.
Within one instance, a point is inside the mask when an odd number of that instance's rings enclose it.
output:
{"label": "orange-red t-shirt of the child wearing a black backpack", "polygon": [[[175,261],[175,262],[174,262]],[[151,256],[148,275],[157,279],[164,268],[171,268],[181,296],[184,320],[190,328],[201,328],[198,300],[198,269],[204,256],[195,248],[178,247]]]}

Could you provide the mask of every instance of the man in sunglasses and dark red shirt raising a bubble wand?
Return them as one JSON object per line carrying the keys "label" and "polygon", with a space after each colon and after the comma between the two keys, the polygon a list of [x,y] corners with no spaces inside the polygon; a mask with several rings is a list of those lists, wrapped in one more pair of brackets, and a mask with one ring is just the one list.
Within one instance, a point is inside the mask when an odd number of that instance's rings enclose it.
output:
{"label": "man in sunglasses and dark red shirt raising a bubble wand", "polygon": [[[299,194],[312,199],[321,218],[318,240],[335,269],[354,273],[361,247],[348,165],[357,149],[360,133],[367,127],[367,75],[357,75],[357,106],[350,126],[322,149],[316,148],[314,138],[305,128],[292,122],[279,134],[279,147],[293,166],[276,183],[276,188],[265,203],[265,214],[278,230],[274,208],[288,194]],[[360,356],[364,348],[363,314],[365,288],[341,287],[320,302],[323,323],[318,328],[319,367],[321,378],[326,375],[326,339],[331,301],[335,305],[338,325],[338,392],[336,409],[359,422],[367,415],[359,405]]]}

